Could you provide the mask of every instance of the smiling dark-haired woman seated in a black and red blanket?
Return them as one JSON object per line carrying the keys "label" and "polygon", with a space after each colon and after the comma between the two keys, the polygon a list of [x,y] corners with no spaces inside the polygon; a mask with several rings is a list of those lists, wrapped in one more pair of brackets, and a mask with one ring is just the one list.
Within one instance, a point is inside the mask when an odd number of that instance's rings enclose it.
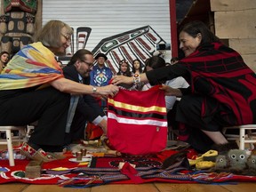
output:
{"label": "smiling dark-haired woman seated in a black and red blanket", "polygon": [[180,49],[185,58],[175,65],[148,71],[137,79],[115,76],[112,83],[159,84],[183,76],[188,88],[162,87],[166,95],[182,97],[176,114],[180,140],[202,152],[211,149],[212,144],[227,150],[237,148],[235,143],[228,143],[221,129],[256,124],[255,73],[239,53],[221,44],[201,21],[192,21],[180,29]]}

